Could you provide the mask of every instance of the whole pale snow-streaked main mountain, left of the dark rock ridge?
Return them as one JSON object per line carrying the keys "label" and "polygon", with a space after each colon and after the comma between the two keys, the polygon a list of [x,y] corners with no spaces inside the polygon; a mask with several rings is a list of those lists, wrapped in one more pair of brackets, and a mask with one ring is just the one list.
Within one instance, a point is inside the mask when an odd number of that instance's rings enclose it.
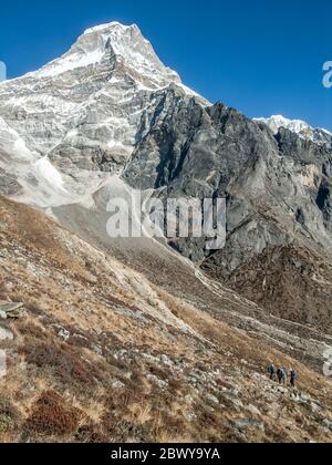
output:
{"label": "whole pale snow-streaked main mountain, left of the dark rock ridge", "polygon": [[6,192],[41,207],[95,192],[107,170],[123,168],[152,108],[174,87],[184,97],[197,95],[162,63],[137,25],[85,30],[59,59],[0,84]]}

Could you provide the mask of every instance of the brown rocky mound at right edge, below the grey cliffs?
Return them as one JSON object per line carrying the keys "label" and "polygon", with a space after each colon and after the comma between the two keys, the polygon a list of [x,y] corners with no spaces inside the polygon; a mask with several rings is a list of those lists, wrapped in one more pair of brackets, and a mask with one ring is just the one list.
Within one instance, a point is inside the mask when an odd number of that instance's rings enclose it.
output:
{"label": "brown rocky mound at right edge, below the grey cliffs", "polygon": [[[212,260],[205,269],[218,278]],[[278,318],[332,333],[332,268],[324,257],[292,246],[269,247],[238,267],[226,285]]]}

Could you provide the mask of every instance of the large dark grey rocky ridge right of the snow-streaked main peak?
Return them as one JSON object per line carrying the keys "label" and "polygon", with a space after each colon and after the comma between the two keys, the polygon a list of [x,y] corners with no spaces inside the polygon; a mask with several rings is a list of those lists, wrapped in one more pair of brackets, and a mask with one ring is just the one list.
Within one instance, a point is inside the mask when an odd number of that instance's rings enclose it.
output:
{"label": "large dark grey rocky ridge right of the snow-streaked main peak", "polygon": [[163,91],[145,115],[142,141],[124,178],[159,196],[227,198],[225,249],[212,255],[204,241],[177,239],[185,256],[204,258],[228,276],[269,246],[305,244],[330,251],[331,204],[328,145],[262,123],[221,103],[201,106],[176,89]]}

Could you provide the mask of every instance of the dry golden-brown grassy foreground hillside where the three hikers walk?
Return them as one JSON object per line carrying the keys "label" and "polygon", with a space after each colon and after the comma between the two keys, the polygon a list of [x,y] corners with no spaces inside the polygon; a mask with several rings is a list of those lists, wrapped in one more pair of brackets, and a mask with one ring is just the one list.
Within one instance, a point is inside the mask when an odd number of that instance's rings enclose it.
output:
{"label": "dry golden-brown grassy foreground hillside where the three hikers walk", "polygon": [[[331,442],[332,386],[0,198],[2,442]],[[297,392],[266,375],[301,374]],[[326,426],[328,424],[328,426]]]}

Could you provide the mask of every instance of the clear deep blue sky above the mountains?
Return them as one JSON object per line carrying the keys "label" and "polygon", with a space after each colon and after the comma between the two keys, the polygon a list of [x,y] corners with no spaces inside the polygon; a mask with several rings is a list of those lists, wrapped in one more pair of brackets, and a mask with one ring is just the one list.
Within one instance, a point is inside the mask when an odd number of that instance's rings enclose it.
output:
{"label": "clear deep blue sky above the mountains", "polygon": [[332,89],[322,85],[332,61],[331,0],[11,0],[0,11],[9,78],[59,56],[91,25],[135,22],[210,101],[332,131]]}

